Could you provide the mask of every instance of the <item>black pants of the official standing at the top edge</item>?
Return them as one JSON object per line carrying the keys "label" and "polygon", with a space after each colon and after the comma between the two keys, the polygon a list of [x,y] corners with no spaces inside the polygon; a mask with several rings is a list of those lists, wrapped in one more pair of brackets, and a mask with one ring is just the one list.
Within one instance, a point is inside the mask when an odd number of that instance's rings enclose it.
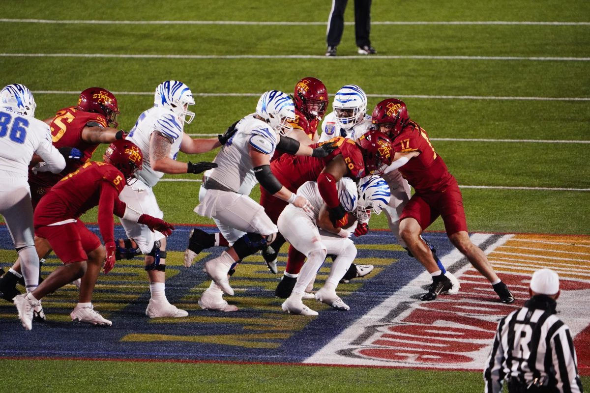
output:
{"label": "black pants of the official standing at the top edge", "polygon": [[[344,10],[348,0],[332,0],[332,11],[328,17],[326,42],[329,47],[340,44],[344,31]],[[371,0],[355,0],[355,37],[356,46],[371,46]]]}

